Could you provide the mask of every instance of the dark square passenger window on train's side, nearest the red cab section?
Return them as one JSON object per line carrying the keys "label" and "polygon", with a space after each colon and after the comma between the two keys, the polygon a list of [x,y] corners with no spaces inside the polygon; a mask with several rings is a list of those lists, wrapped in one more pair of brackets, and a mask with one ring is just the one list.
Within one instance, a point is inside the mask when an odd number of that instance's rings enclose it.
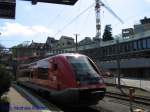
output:
{"label": "dark square passenger window on train's side, nearest the red cab section", "polygon": [[38,68],[38,78],[48,79],[48,68]]}

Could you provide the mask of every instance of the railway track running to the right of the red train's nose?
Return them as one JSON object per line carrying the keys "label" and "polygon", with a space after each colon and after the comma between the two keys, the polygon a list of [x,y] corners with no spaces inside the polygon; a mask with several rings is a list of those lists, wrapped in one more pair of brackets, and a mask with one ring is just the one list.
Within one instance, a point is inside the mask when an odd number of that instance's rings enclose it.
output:
{"label": "railway track running to the right of the red train's nose", "polygon": [[[129,96],[122,95],[122,94],[119,94],[119,93],[107,92],[106,96],[107,97],[112,97],[112,98],[117,98],[117,99],[120,99],[120,100],[130,101]],[[145,105],[145,106],[150,106],[150,98],[149,97],[135,96],[133,102],[137,103],[137,104],[142,104],[142,105]]]}

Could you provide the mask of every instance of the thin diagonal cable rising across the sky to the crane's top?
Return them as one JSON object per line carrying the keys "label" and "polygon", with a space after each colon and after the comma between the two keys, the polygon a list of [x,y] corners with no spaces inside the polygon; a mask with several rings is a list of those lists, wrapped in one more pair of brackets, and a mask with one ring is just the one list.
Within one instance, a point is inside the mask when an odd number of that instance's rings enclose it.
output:
{"label": "thin diagonal cable rising across the sky to the crane's top", "polygon": [[91,4],[89,7],[87,7],[85,10],[83,10],[82,12],[80,12],[75,18],[73,18],[70,22],[68,22],[66,25],[64,25],[60,30],[58,30],[58,32],[54,35],[54,37],[56,35],[58,35],[59,33],[61,33],[66,27],[68,27],[70,24],[72,24],[76,19],[78,19],[81,15],[83,15],[85,12],[87,12],[90,8],[92,8],[95,5],[95,3]]}

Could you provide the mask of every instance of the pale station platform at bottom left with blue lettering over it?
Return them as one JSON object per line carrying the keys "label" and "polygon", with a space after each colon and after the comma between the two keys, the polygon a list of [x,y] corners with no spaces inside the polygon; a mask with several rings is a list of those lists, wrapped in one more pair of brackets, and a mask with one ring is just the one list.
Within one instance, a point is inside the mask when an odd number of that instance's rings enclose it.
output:
{"label": "pale station platform at bottom left with blue lettering over it", "polygon": [[51,112],[43,104],[35,105],[31,101],[27,100],[26,97],[18,92],[15,88],[11,87],[7,94],[10,111],[9,112]]}

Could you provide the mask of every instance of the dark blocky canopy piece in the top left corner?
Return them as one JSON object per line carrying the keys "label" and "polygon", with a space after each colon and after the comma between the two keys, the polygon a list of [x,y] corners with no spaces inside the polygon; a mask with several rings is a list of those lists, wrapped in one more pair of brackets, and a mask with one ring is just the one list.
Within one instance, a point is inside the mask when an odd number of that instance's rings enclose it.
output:
{"label": "dark blocky canopy piece in the top left corner", "polygon": [[0,0],[0,18],[14,19],[16,0]]}

